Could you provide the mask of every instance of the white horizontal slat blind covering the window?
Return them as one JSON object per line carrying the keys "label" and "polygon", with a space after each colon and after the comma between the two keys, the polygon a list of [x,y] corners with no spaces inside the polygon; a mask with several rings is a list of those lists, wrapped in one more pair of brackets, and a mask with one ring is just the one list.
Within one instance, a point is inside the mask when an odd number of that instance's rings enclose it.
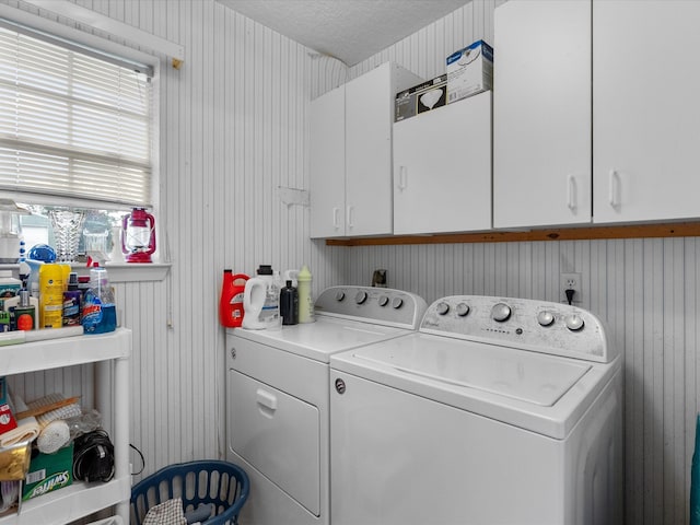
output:
{"label": "white horizontal slat blind covering the window", "polygon": [[147,74],[0,26],[0,190],[151,207],[151,112]]}

